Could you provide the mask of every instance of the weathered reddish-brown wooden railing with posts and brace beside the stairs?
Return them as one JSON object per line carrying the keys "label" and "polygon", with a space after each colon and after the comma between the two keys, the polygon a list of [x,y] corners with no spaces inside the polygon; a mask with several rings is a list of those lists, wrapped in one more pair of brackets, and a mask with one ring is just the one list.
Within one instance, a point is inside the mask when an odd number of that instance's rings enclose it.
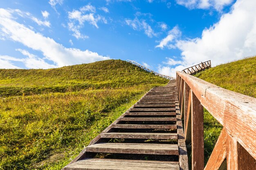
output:
{"label": "weathered reddish-brown wooden railing with posts and brace beside the stairs", "polygon": [[[202,79],[177,71],[186,141],[192,142],[192,167],[218,169],[227,158],[227,169],[236,170],[256,159],[256,98],[220,88]],[[204,168],[203,107],[223,129]],[[238,159],[239,158],[239,159]],[[242,160],[242,161],[241,161]],[[255,164],[254,164],[255,166]]]}

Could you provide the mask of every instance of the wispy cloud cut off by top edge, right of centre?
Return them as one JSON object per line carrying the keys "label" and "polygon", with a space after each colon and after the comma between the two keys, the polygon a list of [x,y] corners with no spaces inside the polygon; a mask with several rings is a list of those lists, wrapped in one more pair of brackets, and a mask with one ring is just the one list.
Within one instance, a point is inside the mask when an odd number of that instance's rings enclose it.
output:
{"label": "wispy cloud cut off by top edge, right of centre", "polygon": [[188,9],[214,8],[217,11],[221,11],[223,7],[231,4],[233,0],[176,0],[176,2]]}

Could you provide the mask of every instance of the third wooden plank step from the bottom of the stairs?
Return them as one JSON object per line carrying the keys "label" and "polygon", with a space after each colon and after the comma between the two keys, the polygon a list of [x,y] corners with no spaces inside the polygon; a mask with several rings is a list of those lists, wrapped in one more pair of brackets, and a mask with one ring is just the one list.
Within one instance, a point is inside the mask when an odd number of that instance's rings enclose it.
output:
{"label": "third wooden plank step from the bottom of the stairs", "polygon": [[101,138],[128,138],[128,139],[178,139],[177,133],[132,133],[110,132],[101,133]]}

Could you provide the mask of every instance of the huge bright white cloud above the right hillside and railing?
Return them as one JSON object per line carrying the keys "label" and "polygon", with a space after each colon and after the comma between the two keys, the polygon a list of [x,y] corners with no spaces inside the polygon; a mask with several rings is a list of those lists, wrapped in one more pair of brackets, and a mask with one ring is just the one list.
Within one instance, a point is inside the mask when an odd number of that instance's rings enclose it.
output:
{"label": "huge bright white cloud above the right hillside and railing", "polygon": [[[179,68],[193,66],[211,60],[212,66],[256,54],[256,1],[237,0],[229,13],[209,29],[202,31],[201,38],[178,40],[175,44],[182,51],[182,65],[170,69],[175,75]],[[182,69],[180,69],[181,71]],[[166,71],[167,72],[167,71]]]}

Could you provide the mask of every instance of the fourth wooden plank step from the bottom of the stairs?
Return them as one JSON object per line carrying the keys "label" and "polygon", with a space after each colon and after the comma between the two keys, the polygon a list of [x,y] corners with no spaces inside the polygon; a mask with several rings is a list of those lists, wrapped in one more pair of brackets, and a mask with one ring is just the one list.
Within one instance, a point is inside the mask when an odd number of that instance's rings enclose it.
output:
{"label": "fourth wooden plank step from the bottom of the stairs", "polygon": [[177,129],[177,125],[113,124],[112,128],[124,128],[124,129],[169,129],[169,130],[176,130]]}

